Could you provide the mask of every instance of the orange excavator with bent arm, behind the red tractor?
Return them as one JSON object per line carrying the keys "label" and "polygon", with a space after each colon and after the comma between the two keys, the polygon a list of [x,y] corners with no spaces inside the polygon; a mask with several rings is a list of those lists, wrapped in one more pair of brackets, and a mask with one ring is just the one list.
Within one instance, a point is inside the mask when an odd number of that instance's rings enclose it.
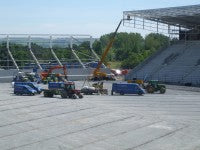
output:
{"label": "orange excavator with bent arm, behind the red tractor", "polygon": [[[63,75],[65,76],[65,79],[67,79],[67,68],[66,66],[53,66],[51,67],[49,70],[45,70],[43,72],[41,72],[40,76],[42,78],[42,80],[46,80],[46,78],[52,74],[52,71],[55,69],[63,69]],[[62,76],[60,74],[57,74],[57,76]]]}

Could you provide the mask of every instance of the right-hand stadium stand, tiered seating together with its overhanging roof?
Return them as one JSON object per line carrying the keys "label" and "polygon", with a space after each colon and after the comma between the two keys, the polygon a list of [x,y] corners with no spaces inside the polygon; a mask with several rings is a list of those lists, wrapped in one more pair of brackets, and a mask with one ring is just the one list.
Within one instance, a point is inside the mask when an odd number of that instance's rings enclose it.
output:
{"label": "right-hand stadium stand, tiered seating together with its overhanging roof", "polygon": [[[200,86],[200,5],[128,11],[124,12],[126,15],[134,18],[134,27],[137,24],[135,18],[143,18],[143,29],[145,19],[168,24],[169,35],[172,34],[170,24],[179,26],[176,28],[179,40],[158,50],[131,70],[126,80],[138,78]],[[158,31],[159,27],[156,28]]]}

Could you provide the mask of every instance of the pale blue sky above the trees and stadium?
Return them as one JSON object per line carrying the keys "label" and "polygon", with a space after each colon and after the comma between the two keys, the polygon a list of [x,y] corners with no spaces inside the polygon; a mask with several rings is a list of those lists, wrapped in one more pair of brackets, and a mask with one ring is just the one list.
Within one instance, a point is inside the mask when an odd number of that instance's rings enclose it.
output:
{"label": "pale blue sky above the trees and stadium", "polygon": [[[199,0],[0,0],[0,33],[112,32],[122,12],[200,4]],[[120,31],[135,32],[121,27]]]}

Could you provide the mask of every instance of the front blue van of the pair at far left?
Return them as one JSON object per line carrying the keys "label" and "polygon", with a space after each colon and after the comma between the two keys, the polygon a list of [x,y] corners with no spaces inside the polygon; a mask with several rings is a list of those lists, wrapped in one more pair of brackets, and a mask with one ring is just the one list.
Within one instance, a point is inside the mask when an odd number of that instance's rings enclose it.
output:
{"label": "front blue van of the pair at far left", "polygon": [[32,89],[28,85],[16,84],[14,85],[14,94],[16,95],[35,95],[36,90]]}

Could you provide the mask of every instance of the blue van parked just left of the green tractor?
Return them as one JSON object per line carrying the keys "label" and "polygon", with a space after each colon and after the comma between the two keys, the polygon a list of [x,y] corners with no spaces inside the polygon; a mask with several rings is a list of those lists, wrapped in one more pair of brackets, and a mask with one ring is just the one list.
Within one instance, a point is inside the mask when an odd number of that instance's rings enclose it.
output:
{"label": "blue van parked just left of the green tractor", "polygon": [[136,83],[113,83],[111,95],[114,93],[124,94],[145,94],[145,90]]}

